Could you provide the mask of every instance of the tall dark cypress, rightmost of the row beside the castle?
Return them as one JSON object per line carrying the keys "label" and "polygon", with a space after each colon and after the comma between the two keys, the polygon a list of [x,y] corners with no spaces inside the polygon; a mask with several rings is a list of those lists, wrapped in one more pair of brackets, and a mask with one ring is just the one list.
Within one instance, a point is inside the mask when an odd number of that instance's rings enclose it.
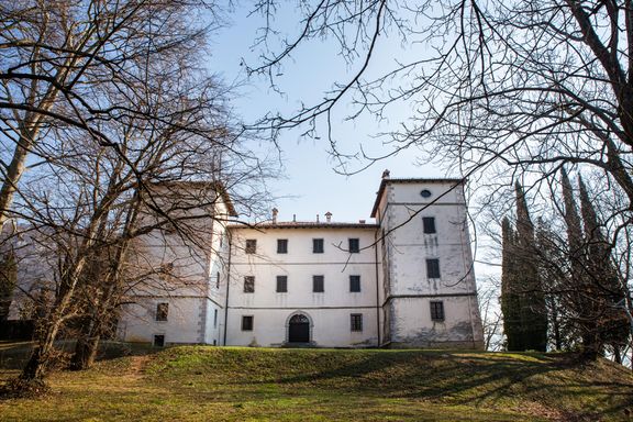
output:
{"label": "tall dark cypress, rightmost of the row beside the castle", "polygon": [[621,363],[620,349],[625,346],[629,338],[629,321],[624,312],[614,308],[614,304],[624,299],[625,293],[611,258],[611,244],[601,230],[602,224],[580,176],[578,176],[578,187],[587,243],[586,269],[591,284],[593,298],[591,308],[596,310],[597,335],[601,344],[609,344],[613,348],[615,359]]}

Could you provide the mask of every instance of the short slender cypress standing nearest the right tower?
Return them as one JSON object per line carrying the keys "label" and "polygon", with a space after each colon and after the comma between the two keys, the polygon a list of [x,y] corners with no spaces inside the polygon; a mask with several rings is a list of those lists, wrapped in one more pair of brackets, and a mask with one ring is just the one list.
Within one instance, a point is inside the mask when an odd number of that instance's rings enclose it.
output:
{"label": "short slender cypress standing nearest the right tower", "polygon": [[501,223],[502,267],[501,267],[501,312],[503,313],[503,332],[510,352],[524,351],[521,332],[521,303],[517,292],[517,235],[504,216]]}

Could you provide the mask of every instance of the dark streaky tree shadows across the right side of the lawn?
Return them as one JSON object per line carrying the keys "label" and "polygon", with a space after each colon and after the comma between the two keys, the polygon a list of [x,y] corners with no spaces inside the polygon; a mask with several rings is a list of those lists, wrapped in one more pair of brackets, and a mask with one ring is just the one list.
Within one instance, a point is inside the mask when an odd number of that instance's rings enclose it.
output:
{"label": "dark streaky tree shadows across the right side of the lawn", "polygon": [[[325,389],[471,407],[532,401],[580,419],[622,417],[633,403],[630,376],[600,379],[603,369],[579,364],[570,355],[399,352],[332,359],[325,352],[311,357],[310,367],[301,373],[284,369],[280,362],[281,370],[275,375],[234,382],[276,382],[296,391]],[[597,374],[587,374],[592,370]]]}

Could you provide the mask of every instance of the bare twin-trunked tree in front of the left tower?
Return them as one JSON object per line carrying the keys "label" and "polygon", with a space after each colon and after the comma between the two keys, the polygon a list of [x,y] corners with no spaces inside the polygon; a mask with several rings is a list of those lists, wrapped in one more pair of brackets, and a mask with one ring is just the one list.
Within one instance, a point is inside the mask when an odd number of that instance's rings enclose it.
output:
{"label": "bare twin-trunked tree in front of the left tower", "polygon": [[[248,138],[226,107],[227,88],[200,65],[207,26],[191,19],[192,5],[201,3],[62,1],[55,10],[47,3],[37,10],[30,2],[2,9],[16,27],[27,26],[22,19],[32,16],[33,31],[44,31],[46,42],[60,38],[60,45],[31,46],[45,51],[42,57],[21,49],[30,45],[20,38],[25,29],[11,32],[14,40],[5,46],[15,62],[4,78],[5,93],[9,98],[15,90],[22,97],[3,104],[3,113],[11,110],[2,114],[3,138],[14,142],[4,151],[13,153],[18,168],[24,169],[27,154],[38,159],[29,173],[13,175],[5,167],[8,193],[0,211],[29,222],[26,230],[35,233],[52,269],[40,281],[37,291],[45,291],[46,300],[38,301],[36,344],[18,388],[43,385],[55,340],[73,326],[80,329],[74,364],[89,366],[129,282],[171,270],[173,263],[153,262],[149,251],[146,268],[126,277],[131,256],[142,255],[135,246],[140,237],[174,231],[192,254],[208,253],[208,232],[198,221],[218,218],[210,209],[220,200],[220,186],[245,211],[266,198],[266,163],[245,145]],[[71,41],[80,30],[88,31],[80,32],[85,43],[98,40],[99,45],[78,52]],[[75,57],[77,64],[55,54]],[[14,68],[29,67],[24,60],[32,66],[29,75],[15,77]],[[51,81],[38,71],[77,74]],[[34,81],[22,86],[23,79]],[[38,98],[46,89],[55,92],[51,104]],[[16,112],[27,96],[36,103]],[[35,118],[38,125],[24,123]],[[19,132],[24,124],[38,132],[26,138]],[[204,188],[191,191],[181,184]],[[169,201],[164,187],[171,187]],[[140,218],[143,213],[152,218]]]}

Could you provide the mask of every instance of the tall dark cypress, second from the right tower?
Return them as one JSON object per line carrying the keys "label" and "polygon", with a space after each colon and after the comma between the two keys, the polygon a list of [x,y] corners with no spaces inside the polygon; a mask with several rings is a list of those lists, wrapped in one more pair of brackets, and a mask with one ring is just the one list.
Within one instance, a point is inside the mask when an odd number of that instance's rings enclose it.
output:
{"label": "tall dark cypress, second from the right tower", "polygon": [[547,308],[538,276],[534,225],[528,211],[523,187],[517,191],[517,290],[521,309],[521,327],[525,349],[545,352],[547,348]]}

